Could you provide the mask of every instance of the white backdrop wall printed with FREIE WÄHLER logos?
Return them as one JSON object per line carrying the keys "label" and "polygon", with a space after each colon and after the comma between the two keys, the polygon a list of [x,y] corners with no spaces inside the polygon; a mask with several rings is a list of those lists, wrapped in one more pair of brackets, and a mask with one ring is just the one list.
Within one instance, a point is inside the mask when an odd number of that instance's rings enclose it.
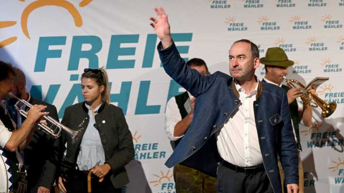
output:
{"label": "white backdrop wall printed with FREIE W\u00c4HLER logos", "polygon": [[[83,69],[105,66],[111,102],[134,135],[123,192],[173,193],[164,112],[168,98],[184,90],[160,66],[149,26],[155,6],[168,13],[182,57],[204,59],[211,72],[228,73],[228,50],[245,38],[261,57],[269,47],[284,48],[296,63],[288,78],[329,77],[317,92],[337,102],[336,112],[322,119],[318,108],[313,126],[300,126],[305,189],[344,192],[344,0],[1,0],[0,60],[23,69],[30,92],[54,104],[60,118],[83,100]],[[264,73],[262,65],[256,74]]]}

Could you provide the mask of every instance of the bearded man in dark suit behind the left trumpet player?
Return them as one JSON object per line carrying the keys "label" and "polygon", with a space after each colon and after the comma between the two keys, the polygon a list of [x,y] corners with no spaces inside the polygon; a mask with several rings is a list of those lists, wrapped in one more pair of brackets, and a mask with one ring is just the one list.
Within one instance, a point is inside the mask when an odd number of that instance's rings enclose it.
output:
{"label": "bearded man in dark suit behind the left trumpet player", "polygon": [[[14,87],[12,93],[18,98],[28,101],[30,104],[40,104],[47,106],[46,112],[49,116],[58,119],[56,107],[34,98],[26,91],[26,77],[23,71],[14,67],[16,77],[14,79]],[[7,110],[11,118],[15,120],[16,124],[20,126],[25,120],[15,110],[15,103],[17,100],[9,99],[6,102]],[[18,107],[24,111],[28,109],[26,105],[19,103]],[[48,127],[52,124],[48,123]],[[53,129],[54,127],[52,127]],[[27,171],[27,191],[28,193],[50,193],[53,189],[53,184],[56,179],[56,171],[58,167],[58,150],[59,140],[46,134],[42,129],[35,126],[35,129],[29,135],[31,137],[30,143],[23,150],[24,165]]]}

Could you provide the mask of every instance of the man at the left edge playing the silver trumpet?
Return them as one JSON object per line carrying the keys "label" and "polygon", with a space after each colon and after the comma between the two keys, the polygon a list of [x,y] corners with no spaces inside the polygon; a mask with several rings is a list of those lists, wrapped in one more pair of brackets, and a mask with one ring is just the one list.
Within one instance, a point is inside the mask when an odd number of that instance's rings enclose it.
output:
{"label": "man at the left edge playing the silver trumpet", "polygon": [[[0,61],[0,98],[8,99],[8,94],[13,89],[13,82],[16,72],[11,64]],[[44,105],[33,105],[27,112],[27,119],[17,126],[11,119],[5,106],[0,107],[0,149],[3,159],[6,159],[11,169],[11,177],[9,178],[8,190],[10,193],[26,193],[27,177],[25,168],[23,167],[23,158],[20,155],[20,149],[24,148],[31,139],[36,122],[43,115],[48,115],[43,110],[47,108]],[[40,121],[46,124],[45,121]],[[12,180],[11,180],[12,179]]]}

